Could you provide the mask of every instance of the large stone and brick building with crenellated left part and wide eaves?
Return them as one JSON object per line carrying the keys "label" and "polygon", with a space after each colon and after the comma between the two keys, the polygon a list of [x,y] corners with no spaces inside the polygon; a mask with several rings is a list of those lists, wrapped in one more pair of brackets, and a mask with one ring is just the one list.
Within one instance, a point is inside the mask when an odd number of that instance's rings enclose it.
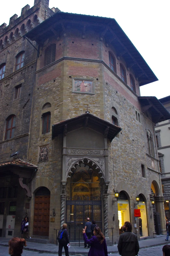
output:
{"label": "large stone and brick building with crenellated left part and wide eaves", "polygon": [[109,244],[126,220],[139,236],[137,208],[142,236],[164,234],[154,124],[170,114],[140,97],[157,77],[115,19],[48,4],[0,26],[2,236],[19,236],[26,214],[29,236],[54,243],[67,222],[77,241],[90,217]]}

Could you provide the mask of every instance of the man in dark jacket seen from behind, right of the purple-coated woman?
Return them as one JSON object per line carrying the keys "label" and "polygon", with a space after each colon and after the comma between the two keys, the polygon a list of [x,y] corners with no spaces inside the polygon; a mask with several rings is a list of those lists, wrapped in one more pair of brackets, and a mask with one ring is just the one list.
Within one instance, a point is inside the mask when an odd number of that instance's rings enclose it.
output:
{"label": "man in dark jacket seen from behind, right of the purple-coated woman", "polygon": [[139,251],[139,242],[137,235],[132,231],[131,222],[126,221],[123,226],[124,233],[120,234],[118,241],[118,251],[122,256],[135,256]]}

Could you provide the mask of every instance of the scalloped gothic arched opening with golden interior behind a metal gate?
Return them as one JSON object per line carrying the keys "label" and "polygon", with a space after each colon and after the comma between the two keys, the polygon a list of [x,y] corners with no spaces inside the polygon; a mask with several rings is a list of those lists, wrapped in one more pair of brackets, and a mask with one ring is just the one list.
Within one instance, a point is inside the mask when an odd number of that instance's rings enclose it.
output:
{"label": "scalloped gothic arched opening with golden interior behind a metal gate", "polygon": [[96,167],[84,159],[71,168],[66,200],[70,241],[79,240],[79,230],[84,228],[87,217],[102,228],[100,175]]}

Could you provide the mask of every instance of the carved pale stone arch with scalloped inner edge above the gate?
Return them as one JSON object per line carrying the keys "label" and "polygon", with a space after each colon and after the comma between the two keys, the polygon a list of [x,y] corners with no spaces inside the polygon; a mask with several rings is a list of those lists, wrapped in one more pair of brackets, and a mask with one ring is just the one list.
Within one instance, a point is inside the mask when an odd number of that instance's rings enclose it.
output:
{"label": "carved pale stone arch with scalloped inner edge above the gate", "polygon": [[[80,158],[75,158],[75,157],[70,157],[70,159],[68,159],[67,161],[67,171],[66,171],[66,181],[67,178],[70,178],[69,173],[72,172],[71,168],[73,168],[76,164],[79,164],[80,161],[83,162],[83,160],[86,159],[87,163],[92,162],[92,166],[96,165],[96,170],[98,171],[98,173],[100,174],[100,178],[102,179],[102,181],[106,181],[105,178],[105,163],[104,163],[104,158],[97,158],[97,157],[80,157]],[[72,161],[71,161],[72,160]]]}

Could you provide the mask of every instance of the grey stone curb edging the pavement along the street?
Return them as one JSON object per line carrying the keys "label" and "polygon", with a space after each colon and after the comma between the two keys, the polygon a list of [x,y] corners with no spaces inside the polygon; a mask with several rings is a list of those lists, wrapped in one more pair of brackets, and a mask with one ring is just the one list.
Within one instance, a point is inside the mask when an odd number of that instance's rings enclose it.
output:
{"label": "grey stone curb edging the pavement along the street", "polygon": [[[169,241],[167,242],[162,242],[162,243],[159,243],[159,244],[154,244],[154,245],[147,245],[147,246],[142,246],[140,247],[140,249],[144,249],[144,248],[150,248],[150,247],[156,247],[156,246],[160,246],[160,245],[165,245],[165,244],[169,244]],[[7,244],[3,244],[3,243],[0,243],[0,246],[4,246],[4,247],[8,247]],[[49,250],[41,250],[41,249],[36,249],[36,248],[23,248],[24,250],[27,250],[27,251],[37,251],[37,252],[40,252],[40,253],[48,253],[48,254],[58,254],[58,250],[56,251],[49,251]],[[69,254],[70,255],[87,255],[88,252],[81,252],[81,251],[70,251],[69,250]],[[118,250],[116,251],[108,251],[108,254],[110,253],[118,253]]]}

